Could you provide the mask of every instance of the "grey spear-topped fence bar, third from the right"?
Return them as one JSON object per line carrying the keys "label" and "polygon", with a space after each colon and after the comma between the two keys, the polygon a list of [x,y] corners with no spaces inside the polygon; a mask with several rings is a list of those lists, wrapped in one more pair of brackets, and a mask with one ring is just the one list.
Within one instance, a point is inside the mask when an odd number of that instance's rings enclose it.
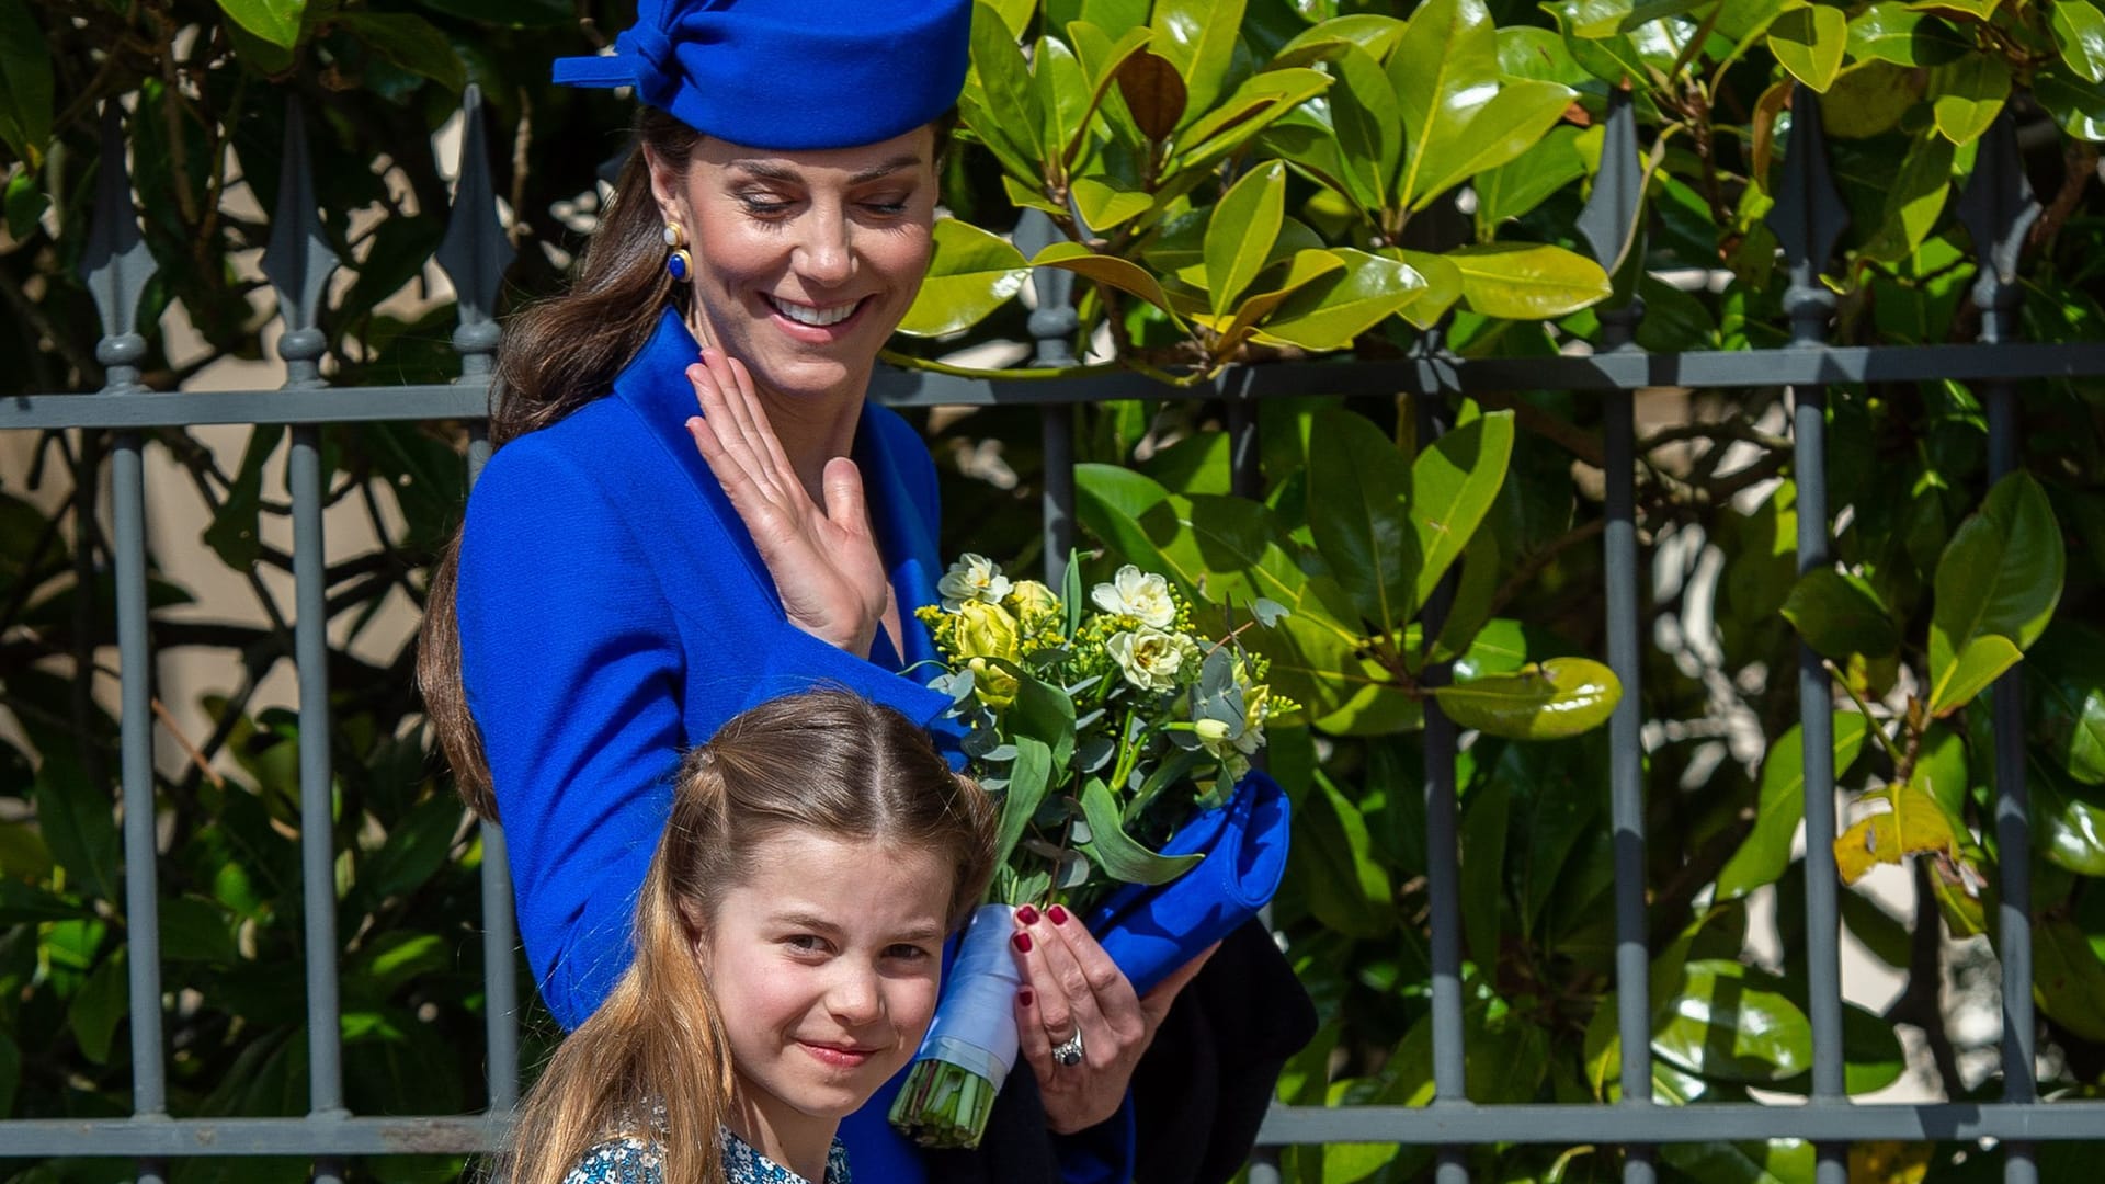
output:
{"label": "grey spear-topped fence bar, third from the right", "polygon": [[[1638,116],[1629,91],[1608,97],[1600,173],[1579,215],[1579,234],[1615,276],[1610,308],[1600,310],[1602,346],[1636,350],[1644,301],[1644,171],[1638,162]],[[1608,815],[1615,826],[1615,1028],[1621,1041],[1625,1106],[1652,1104],[1652,988],[1650,938],[1644,916],[1644,683],[1642,626],[1638,617],[1638,407],[1636,394],[1615,390],[1602,398],[1606,445],[1606,514],[1602,577],[1608,600],[1608,666],[1623,685],[1623,699],[1608,721]],[[1655,1148],[1623,1150],[1623,1184],[1652,1184]]]}

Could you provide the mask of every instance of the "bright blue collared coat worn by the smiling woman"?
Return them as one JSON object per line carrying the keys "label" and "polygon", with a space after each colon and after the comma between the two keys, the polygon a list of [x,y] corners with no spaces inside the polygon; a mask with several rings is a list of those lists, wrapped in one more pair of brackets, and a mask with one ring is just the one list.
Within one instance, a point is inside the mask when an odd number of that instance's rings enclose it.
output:
{"label": "bright blue collared coat worn by the smiling woman", "polygon": [[[905,649],[880,632],[865,662],[783,615],[775,579],[686,434],[697,356],[667,312],[610,396],[499,449],[467,501],[461,674],[497,786],[520,938],[564,1028],[592,1015],[629,965],[636,893],[684,748],[749,706],[836,685],[958,750],[956,725],[941,718],[949,697],[899,674],[935,657],[911,615],[937,603],[943,571],[928,447],[897,413],[863,409],[855,461]],[[903,1077],[842,1123],[863,1180],[930,1178],[922,1152],[884,1121]],[[1036,1123],[1042,1131],[1042,1108]],[[1114,1123],[1114,1138],[1052,1140],[1067,1184],[1130,1176],[1130,1100]]]}

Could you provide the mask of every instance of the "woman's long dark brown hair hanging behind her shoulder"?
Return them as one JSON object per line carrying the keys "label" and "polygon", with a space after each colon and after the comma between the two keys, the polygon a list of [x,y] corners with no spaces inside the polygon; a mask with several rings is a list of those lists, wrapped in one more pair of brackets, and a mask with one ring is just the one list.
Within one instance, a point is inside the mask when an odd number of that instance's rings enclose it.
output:
{"label": "woman's long dark brown hair hanging behind her shoulder", "polygon": [[[600,228],[579,261],[570,291],[522,310],[505,327],[490,386],[490,447],[547,428],[608,392],[615,375],[642,352],[667,303],[684,314],[688,289],[665,274],[663,217],[650,196],[646,152],[684,171],[701,133],[642,107],[638,152],[615,179]],[[461,626],[455,609],[461,531],[432,565],[423,628],[417,636],[417,687],[455,784],[482,817],[497,820],[497,794],[482,754],[482,733],[461,683]]]}

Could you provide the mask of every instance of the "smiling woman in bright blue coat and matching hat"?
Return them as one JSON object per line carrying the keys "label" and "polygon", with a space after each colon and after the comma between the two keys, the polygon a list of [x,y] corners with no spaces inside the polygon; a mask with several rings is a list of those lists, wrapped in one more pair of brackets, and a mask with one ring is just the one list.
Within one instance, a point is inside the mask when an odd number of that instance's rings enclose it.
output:
{"label": "smiling woman in bright blue coat and matching hat", "polygon": [[[507,331],[497,451],[434,575],[419,676],[463,792],[505,824],[520,933],[566,1028],[629,961],[686,746],[813,685],[939,727],[945,697],[899,674],[935,655],[911,611],[943,571],[935,468],[865,390],[930,257],[968,27],[966,0],[644,0],[613,55],[558,63],[634,86],[640,150],[575,289]],[[1036,925],[1040,950],[1101,959],[1078,925]],[[1116,967],[1090,978],[1031,1001],[1088,1058],[1059,1066],[1038,1041],[979,1157],[918,1155],[886,1089],[842,1129],[857,1171],[1130,1176],[1128,1085],[1189,975],[1145,1001]],[[1204,1064],[1274,1064],[1297,1030],[1240,1032]],[[1269,1077],[1252,1081],[1240,1110],[1202,1108],[1240,1112],[1225,1163],[1255,1136]]]}

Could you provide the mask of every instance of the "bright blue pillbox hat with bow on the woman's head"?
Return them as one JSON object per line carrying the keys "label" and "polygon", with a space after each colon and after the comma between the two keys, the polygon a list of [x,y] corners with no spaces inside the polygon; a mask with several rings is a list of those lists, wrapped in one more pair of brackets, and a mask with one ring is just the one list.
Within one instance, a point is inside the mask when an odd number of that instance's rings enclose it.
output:
{"label": "bright blue pillbox hat with bow on the woman's head", "polygon": [[556,82],[636,86],[703,135],[747,147],[880,143],[958,101],[973,0],[640,0],[610,57]]}

